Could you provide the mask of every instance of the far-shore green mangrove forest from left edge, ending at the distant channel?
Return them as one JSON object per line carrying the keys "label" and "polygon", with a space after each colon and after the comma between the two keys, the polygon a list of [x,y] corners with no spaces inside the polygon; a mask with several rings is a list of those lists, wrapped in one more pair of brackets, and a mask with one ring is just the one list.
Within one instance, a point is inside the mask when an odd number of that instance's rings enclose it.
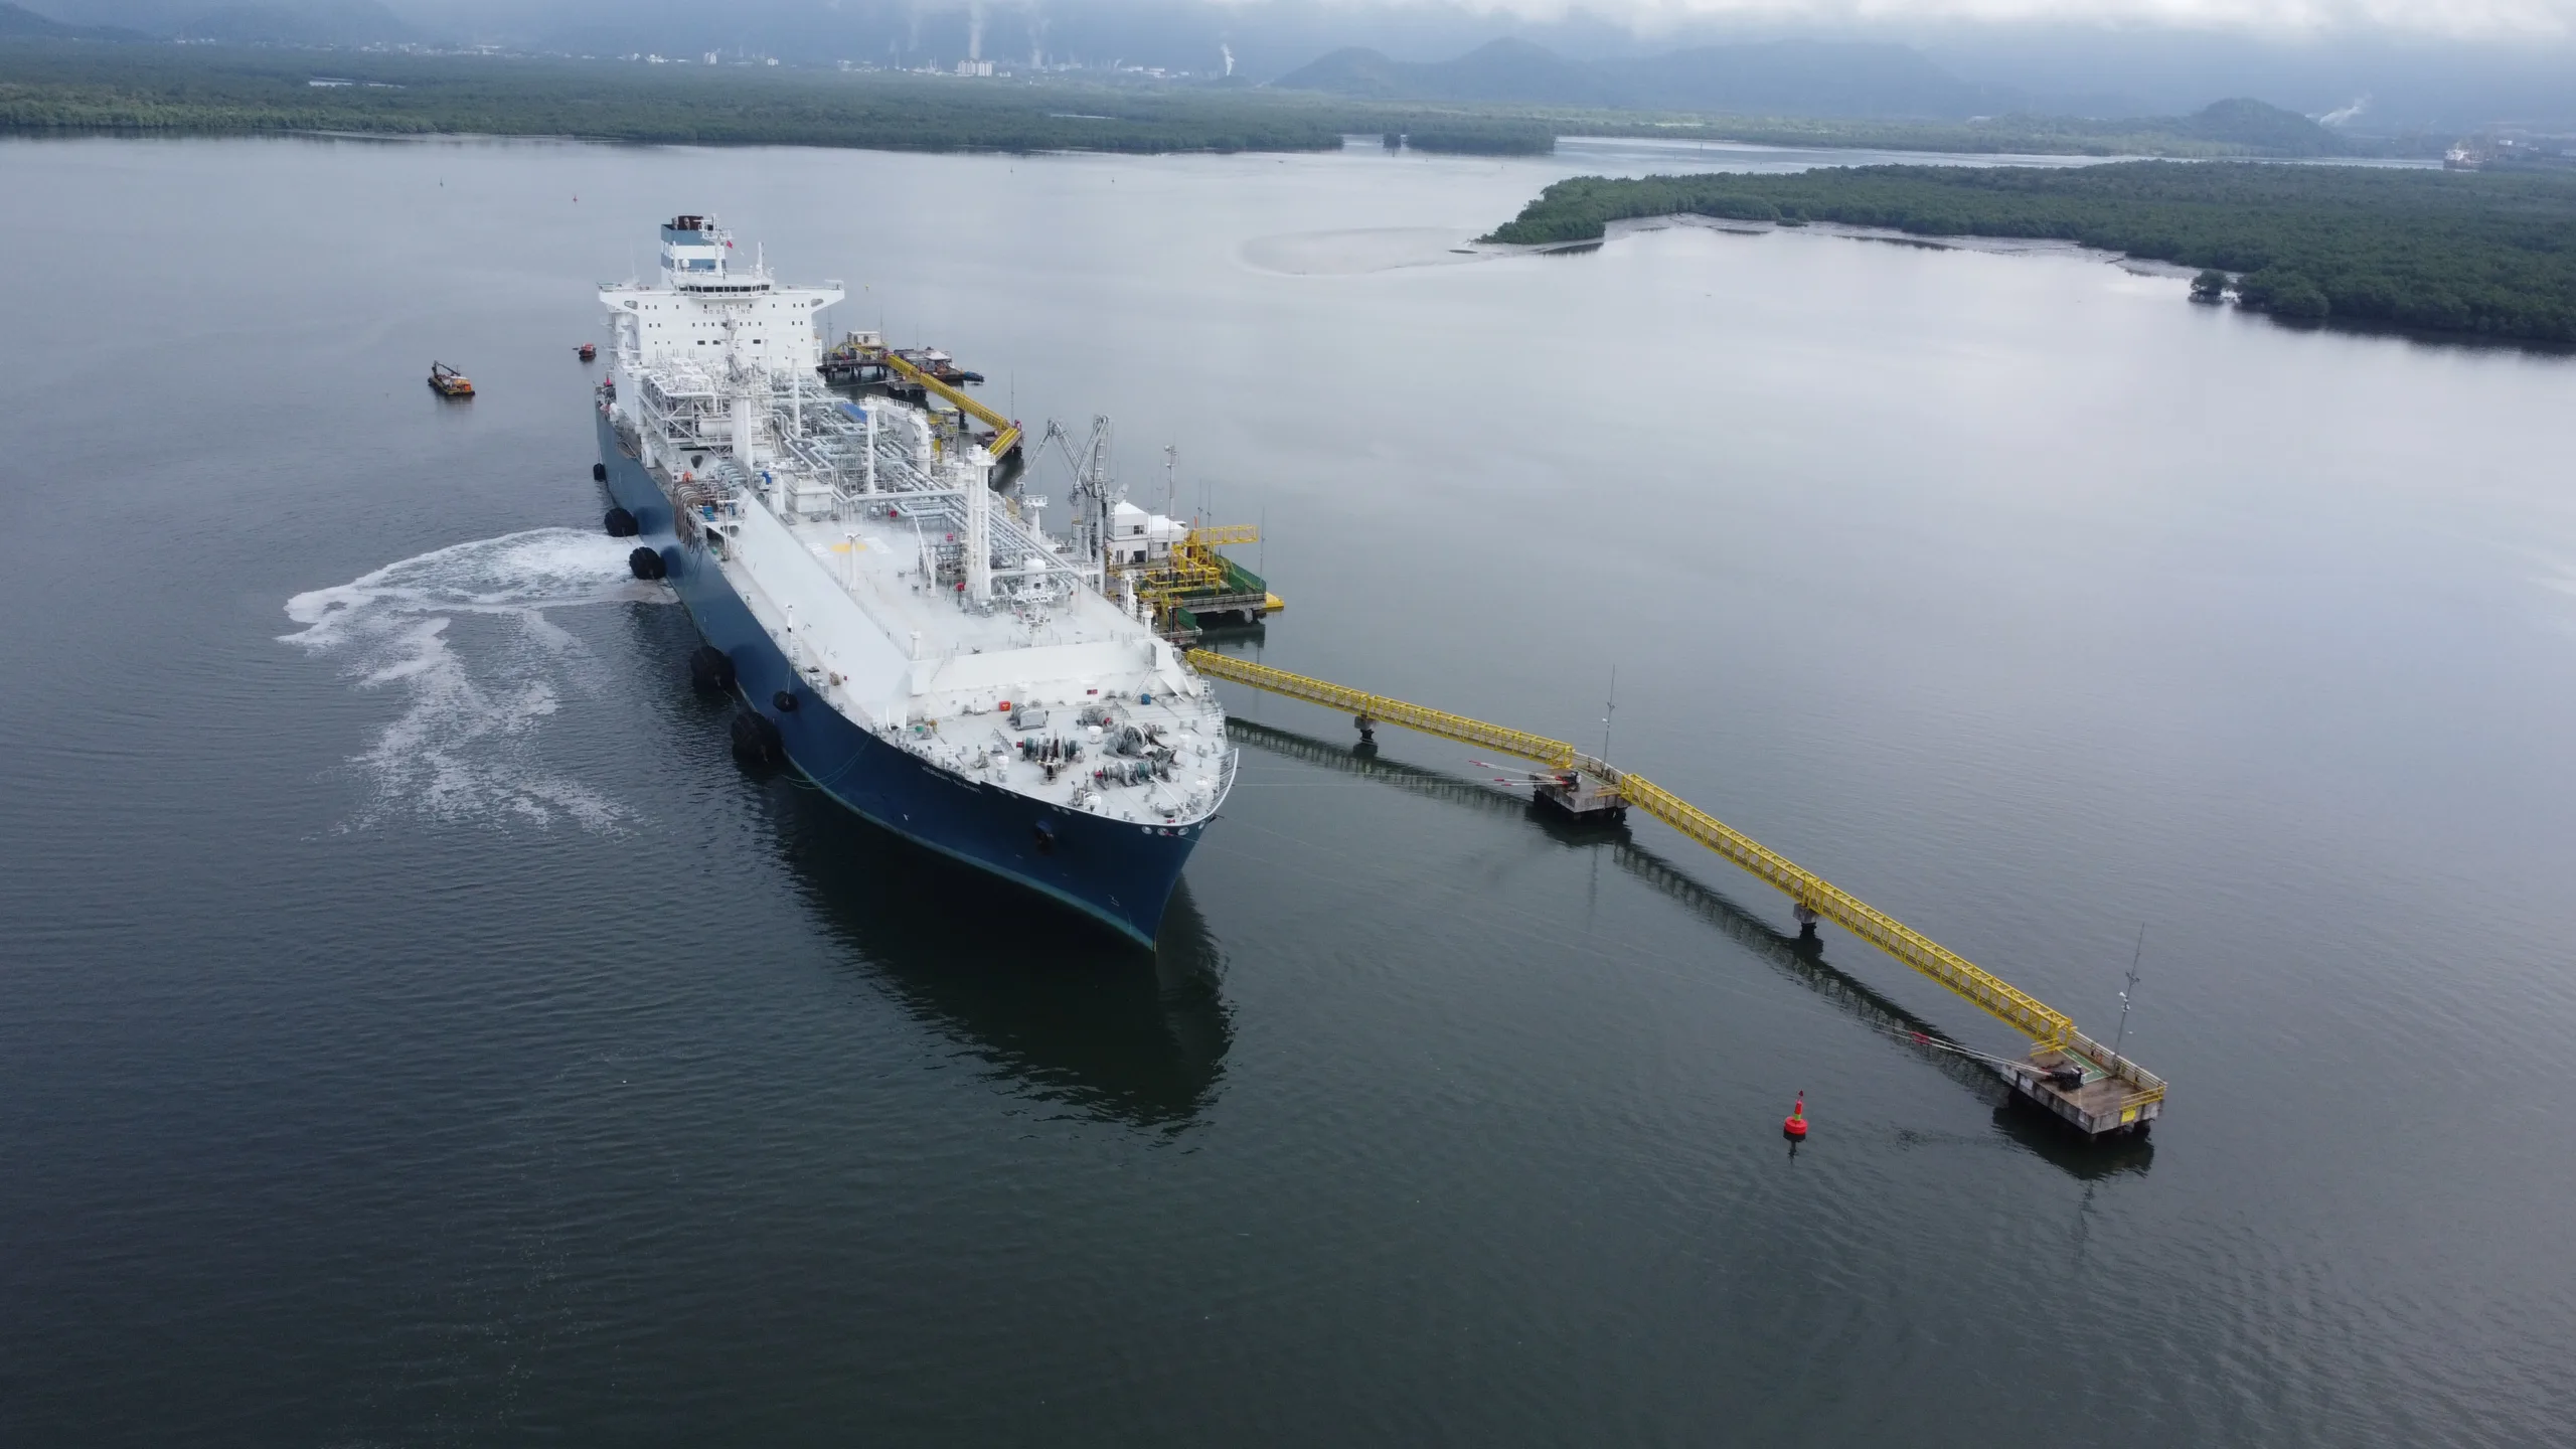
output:
{"label": "far-shore green mangrove forest from left edge, ending at the distant channel", "polygon": [[1525,119],[1239,88],[67,41],[0,44],[0,131],[376,131],[999,152],[1296,152],[1383,131],[1453,152],[1556,144],[1553,131]]}

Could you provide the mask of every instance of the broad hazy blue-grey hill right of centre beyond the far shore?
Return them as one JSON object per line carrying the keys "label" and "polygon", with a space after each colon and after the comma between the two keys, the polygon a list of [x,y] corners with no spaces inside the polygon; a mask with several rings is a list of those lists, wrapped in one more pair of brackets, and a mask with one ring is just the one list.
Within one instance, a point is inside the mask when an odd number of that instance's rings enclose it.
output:
{"label": "broad hazy blue-grey hill right of centre beyond the far shore", "polygon": [[1922,52],[1857,41],[1698,46],[1646,59],[1566,59],[1530,41],[1492,41],[1458,59],[1401,62],[1340,49],[1273,85],[1360,101],[1484,101],[1734,116],[1971,116],[1986,93]]}

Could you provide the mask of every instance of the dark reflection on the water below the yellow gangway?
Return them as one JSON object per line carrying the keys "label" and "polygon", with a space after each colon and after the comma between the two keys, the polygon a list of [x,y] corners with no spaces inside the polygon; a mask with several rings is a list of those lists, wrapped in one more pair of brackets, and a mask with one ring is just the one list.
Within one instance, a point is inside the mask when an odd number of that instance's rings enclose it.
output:
{"label": "dark reflection on the water below the yellow gangway", "polygon": [[1381,758],[1376,745],[1334,745],[1329,740],[1316,740],[1314,735],[1298,735],[1296,730],[1280,730],[1252,719],[1229,719],[1226,730],[1244,745],[1255,745],[1273,755],[1383,781],[1406,794],[1440,799],[1445,804],[1530,820],[1546,830],[1551,841],[1569,848],[1607,848],[1620,869],[1651,887],[1656,895],[1680,902],[1728,941],[1775,967],[1780,975],[1806,985],[1865,1026],[1891,1036],[1899,1049],[1917,1052],[1935,1070],[1994,1104],[1996,1132],[2009,1137],[2014,1145],[2027,1147],[2038,1158],[2074,1173],[2076,1178],[2099,1178],[2130,1171],[2143,1173],[2156,1158],[2154,1140],[2146,1137],[2123,1140],[2117,1145],[2094,1145],[2071,1137],[2063,1124],[2014,1096],[2012,1088],[2007,1088],[1991,1070],[1950,1052],[1911,1047],[1911,1036],[1929,1036],[1932,1042],[1953,1042],[1953,1036],[1932,1021],[1906,1011],[1893,998],[1878,993],[1860,977],[1826,962],[1824,941],[1801,938],[1790,931],[1775,928],[1752,910],[1728,900],[1723,892],[1698,882],[1682,871],[1682,866],[1656,851],[1649,851],[1646,846],[1638,846],[1625,825],[1574,822],[1556,810],[1538,807],[1520,792]]}

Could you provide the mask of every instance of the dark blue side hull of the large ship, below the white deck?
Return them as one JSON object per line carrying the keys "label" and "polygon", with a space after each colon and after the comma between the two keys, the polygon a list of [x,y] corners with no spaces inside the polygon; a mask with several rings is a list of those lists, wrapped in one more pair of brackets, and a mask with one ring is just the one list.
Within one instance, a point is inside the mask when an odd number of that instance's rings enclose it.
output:
{"label": "dark blue side hull of the large ship, below the white deck", "polygon": [[[636,516],[641,529],[636,541],[662,552],[667,580],[698,632],[734,660],[734,686],[744,706],[778,727],[788,761],[806,779],[863,820],[1061,900],[1146,946],[1154,944],[1180,866],[1198,846],[1206,820],[1136,825],[1064,810],[953,776],[860,730],[796,678],[768,629],[752,619],[703,547],[680,541],[670,500],[644,464],[618,446],[605,410],[598,431],[608,492]],[[793,691],[804,706],[770,709],[768,701],[778,691]]]}

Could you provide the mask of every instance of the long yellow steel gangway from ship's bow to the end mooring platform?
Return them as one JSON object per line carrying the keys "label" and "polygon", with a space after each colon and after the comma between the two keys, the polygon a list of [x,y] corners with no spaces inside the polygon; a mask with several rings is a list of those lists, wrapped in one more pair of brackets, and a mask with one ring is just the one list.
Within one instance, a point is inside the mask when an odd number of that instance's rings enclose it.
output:
{"label": "long yellow steel gangway from ship's bow to the end mooring platform", "polygon": [[1461,740],[1522,761],[1538,761],[1556,771],[1553,781],[1538,786],[1540,797],[1579,815],[1597,815],[1615,807],[1643,810],[1785,892],[1798,905],[1801,928],[1832,920],[2030,1036],[2027,1062],[2012,1065],[2004,1078],[2014,1091],[2071,1122],[2076,1129],[2094,1137],[2143,1132],[2148,1122],[2164,1114],[2164,1078],[2076,1031],[2076,1024],[2066,1013],[1641,773],[1592,758],[1566,740],[1345,688],[1213,650],[1190,650],[1190,665],[1211,678],[1249,683],[1252,688],[1285,694],[1288,699],[1350,712],[1363,732],[1376,722],[1404,724],[1406,730],[1440,735],[1443,740]]}

